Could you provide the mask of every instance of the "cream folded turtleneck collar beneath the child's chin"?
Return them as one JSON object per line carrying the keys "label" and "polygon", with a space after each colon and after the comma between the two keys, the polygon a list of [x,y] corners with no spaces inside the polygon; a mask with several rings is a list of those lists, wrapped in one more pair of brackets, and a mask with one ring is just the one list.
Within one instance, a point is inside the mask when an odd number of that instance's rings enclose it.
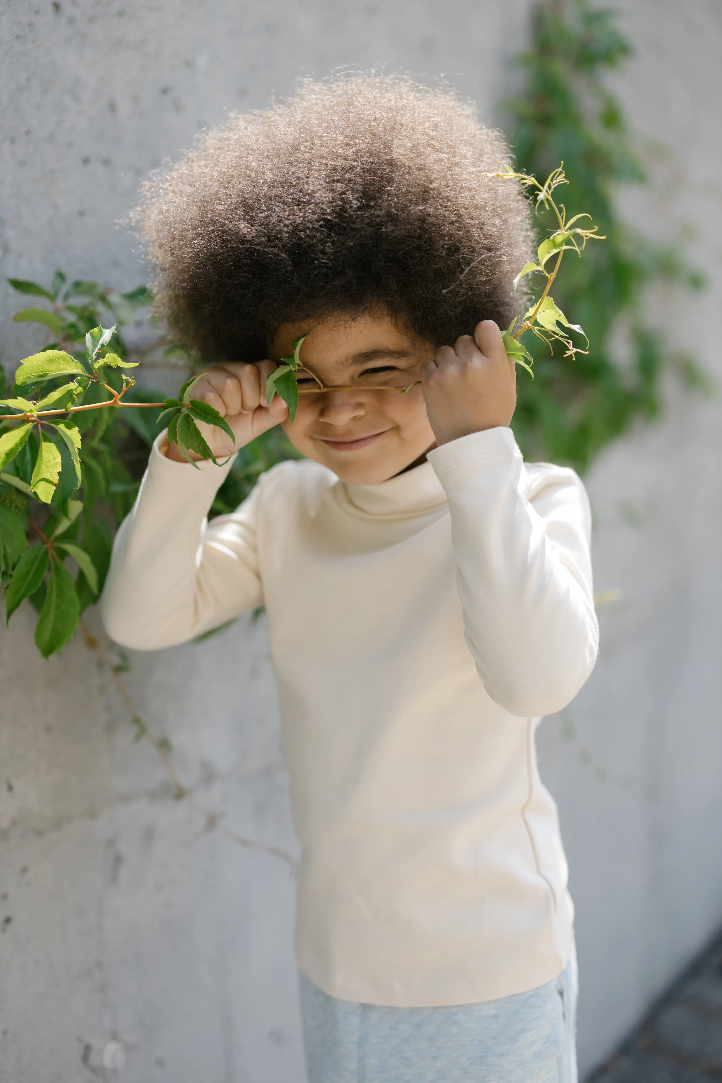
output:
{"label": "cream folded turtleneck collar beneath the child's chin", "polygon": [[446,507],[446,493],[431,462],[396,474],[378,485],[336,486],[349,510],[375,519],[413,519]]}

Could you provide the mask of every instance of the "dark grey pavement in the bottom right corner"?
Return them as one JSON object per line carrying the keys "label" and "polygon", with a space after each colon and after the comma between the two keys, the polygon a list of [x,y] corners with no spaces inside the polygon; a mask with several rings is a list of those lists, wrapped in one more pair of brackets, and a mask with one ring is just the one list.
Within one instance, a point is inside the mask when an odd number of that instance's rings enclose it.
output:
{"label": "dark grey pavement in the bottom right corner", "polygon": [[722,1083],[722,937],[588,1083]]}

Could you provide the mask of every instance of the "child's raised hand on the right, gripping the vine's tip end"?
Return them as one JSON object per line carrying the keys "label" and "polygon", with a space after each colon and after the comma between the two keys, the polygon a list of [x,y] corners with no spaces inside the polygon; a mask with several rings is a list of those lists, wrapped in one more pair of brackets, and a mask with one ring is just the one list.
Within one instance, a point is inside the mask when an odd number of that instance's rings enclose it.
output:
{"label": "child's raised hand on the right, gripping the vine's tip end", "polygon": [[421,366],[426,414],[437,444],[508,426],[516,406],[516,366],[493,319],[443,345]]}

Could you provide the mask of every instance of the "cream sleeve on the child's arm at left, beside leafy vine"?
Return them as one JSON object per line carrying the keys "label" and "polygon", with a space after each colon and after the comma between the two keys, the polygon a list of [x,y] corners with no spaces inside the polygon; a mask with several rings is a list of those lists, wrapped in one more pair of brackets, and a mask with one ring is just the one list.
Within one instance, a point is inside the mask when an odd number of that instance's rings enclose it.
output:
{"label": "cream sleeve on the child's arm at left, beside leafy vine", "polygon": [[154,444],[135,505],[115,539],[101,599],[108,635],[135,650],[181,643],[262,603],[254,492],[233,514],[207,516],[231,464],[166,458]]}

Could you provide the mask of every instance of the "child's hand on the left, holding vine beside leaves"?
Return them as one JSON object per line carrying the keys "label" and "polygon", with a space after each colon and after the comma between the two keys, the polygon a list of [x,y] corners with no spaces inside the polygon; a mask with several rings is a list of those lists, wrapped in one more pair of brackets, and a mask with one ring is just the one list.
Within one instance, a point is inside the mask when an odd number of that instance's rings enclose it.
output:
{"label": "child's hand on the left, holding vine beside leaves", "polygon": [[[194,386],[192,397],[213,406],[226,419],[236,438],[234,444],[216,426],[196,422],[216,459],[233,455],[244,444],[288,417],[288,406],[278,395],[266,408],[265,381],[276,367],[273,361],[261,361],[254,365],[224,361],[206,369]],[[185,462],[178,444],[169,444],[167,454],[169,459]],[[200,458],[194,452],[189,454],[194,459]]]}

